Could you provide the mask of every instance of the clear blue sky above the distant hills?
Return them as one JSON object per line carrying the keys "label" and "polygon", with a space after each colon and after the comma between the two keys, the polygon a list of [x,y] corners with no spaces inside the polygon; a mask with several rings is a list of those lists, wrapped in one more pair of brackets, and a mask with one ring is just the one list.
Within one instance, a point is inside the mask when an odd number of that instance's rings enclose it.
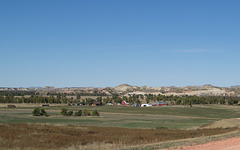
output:
{"label": "clear blue sky above the distant hills", "polygon": [[240,84],[239,0],[1,0],[0,87]]}

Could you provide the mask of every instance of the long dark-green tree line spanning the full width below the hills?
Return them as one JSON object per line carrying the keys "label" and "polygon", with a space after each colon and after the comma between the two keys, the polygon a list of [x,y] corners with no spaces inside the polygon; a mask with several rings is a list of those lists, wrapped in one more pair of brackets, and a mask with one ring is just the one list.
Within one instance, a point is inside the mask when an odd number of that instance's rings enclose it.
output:
{"label": "long dark-green tree line spanning the full width below the hills", "polygon": [[57,96],[39,96],[32,95],[30,97],[16,97],[13,95],[2,96],[0,95],[0,103],[57,103],[57,104],[81,104],[81,105],[92,105],[94,102],[107,103],[121,103],[126,101],[130,104],[141,102],[168,102],[171,105],[193,105],[193,104],[228,104],[236,105],[240,102],[240,97],[234,96],[165,96],[165,95],[128,95],[119,96],[118,94],[112,94],[111,97],[102,98],[101,96],[96,99],[85,98],[81,99],[80,95],[76,96],[76,99],[67,98],[66,95],[58,94]]}

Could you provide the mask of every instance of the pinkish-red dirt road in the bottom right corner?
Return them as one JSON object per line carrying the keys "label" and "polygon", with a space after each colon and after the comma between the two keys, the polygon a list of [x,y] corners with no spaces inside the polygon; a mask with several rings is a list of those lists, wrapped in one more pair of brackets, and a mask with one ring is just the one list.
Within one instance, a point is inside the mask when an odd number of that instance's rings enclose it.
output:
{"label": "pinkish-red dirt road in the bottom right corner", "polygon": [[181,146],[170,150],[240,150],[240,137],[214,141],[202,145]]}

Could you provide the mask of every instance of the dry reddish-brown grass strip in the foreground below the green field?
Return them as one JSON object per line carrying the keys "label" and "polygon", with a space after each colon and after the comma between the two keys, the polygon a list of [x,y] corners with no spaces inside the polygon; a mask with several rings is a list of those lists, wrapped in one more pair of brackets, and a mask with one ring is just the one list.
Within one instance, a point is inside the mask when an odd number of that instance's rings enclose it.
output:
{"label": "dry reddish-brown grass strip in the foreground below the green field", "polygon": [[236,129],[156,130],[46,124],[2,124],[0,125],[0,147],[6,149],[89,149],[89,146],[102,146],[103,149],[104,147],[111,149],[110,147],[210,136]]}

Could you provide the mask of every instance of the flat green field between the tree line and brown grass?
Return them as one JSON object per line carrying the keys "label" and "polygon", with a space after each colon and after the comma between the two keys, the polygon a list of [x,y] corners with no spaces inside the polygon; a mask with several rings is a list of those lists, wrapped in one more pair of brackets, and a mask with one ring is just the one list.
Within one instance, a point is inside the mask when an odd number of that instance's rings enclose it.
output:
{"label": "flat green field between the tree line and brown grass", "polygon": [[[50,106],[45,110],[49,117],[32,116],[34,107],[0,107],[0,123],[51,123],[124,128],[187,129],[212,122],[240,117],[240,107],[206,105],[194,107],[128,107],[128,106]],[[68,110],[93,111],[97,109],[100,117],[74,117],[60,115],[61,108]]]}

